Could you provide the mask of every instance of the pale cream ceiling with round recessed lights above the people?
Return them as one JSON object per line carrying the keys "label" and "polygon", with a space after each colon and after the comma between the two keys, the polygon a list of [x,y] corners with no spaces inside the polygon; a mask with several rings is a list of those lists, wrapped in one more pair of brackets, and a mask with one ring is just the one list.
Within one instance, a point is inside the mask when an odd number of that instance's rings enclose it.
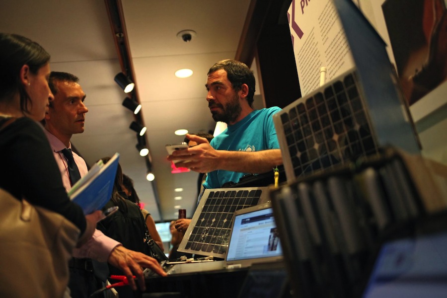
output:
{"label": "pale cream ceiling with round recessed lights above the people", "polygon": [[[146,180],[147,166],[129,129],[132,112],[122,106],[126,97],[114,82],[121,72],[118,51],[101,0],[2,0],[0,31],[24,35],[52,56],[53,71],[80,78],[87,94],[85,132],[72,143],[88,164],[120,153],[123,172],[135,182],[138,195],[156,222],[176,218],[181,206],[191,217],[196,204],[196,172],[172,174],[165,145],[182,142],[180,128],[191,133],[213,131],[216,123],[207,108],[206,74],[217,61],[234,58],[250,0],[122,0],[136,92],[152,158],[155,180]],[[197,35],[186,43],[182,30]],[[189,68],[194,74],[177,78]],[[256,70],[255,70],[256,71]],[[255,107],[262,107],[259,93]],[[174,192],[183,188],[182,192]],[[182,200],[175,200],[182,197]]]}

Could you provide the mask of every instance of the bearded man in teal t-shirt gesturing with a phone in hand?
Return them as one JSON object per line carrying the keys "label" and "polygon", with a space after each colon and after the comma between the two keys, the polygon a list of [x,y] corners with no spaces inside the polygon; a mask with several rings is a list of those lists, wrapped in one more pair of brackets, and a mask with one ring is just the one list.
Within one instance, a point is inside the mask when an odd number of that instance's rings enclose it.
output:
{"label": "bearded man in teal t-shirt gesturing with a phone in hand", "polygon": [[198,145],[176,150],[167,159],[188,160],[176,166],[208,173],[205,188],[237,183],[246,174],[264,173],[283,164],[272,118],[281,109],[254,110],[255,84],[253,71],[241,62],[227,59],[211,67],[205,84],[208,107],[213,119],[228,127],[211,142],[187,134]]}

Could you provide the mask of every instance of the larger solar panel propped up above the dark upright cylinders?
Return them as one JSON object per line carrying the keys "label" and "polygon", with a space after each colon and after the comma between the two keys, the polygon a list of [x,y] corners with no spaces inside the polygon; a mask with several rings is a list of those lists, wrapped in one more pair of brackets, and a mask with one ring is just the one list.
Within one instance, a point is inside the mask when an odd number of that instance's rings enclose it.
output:
{"label": "larger solar panel propped up above the dark upright cylinders", "polygon": [[377,152],[355,70],[274,115],[287,179]]}

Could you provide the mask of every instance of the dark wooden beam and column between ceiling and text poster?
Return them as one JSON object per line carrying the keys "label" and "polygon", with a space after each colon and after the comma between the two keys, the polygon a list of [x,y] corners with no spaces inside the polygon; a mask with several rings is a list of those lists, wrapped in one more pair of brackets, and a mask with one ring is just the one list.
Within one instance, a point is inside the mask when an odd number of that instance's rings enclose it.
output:
{"label": "dark wooden beam and column between ceiling and text poster", "polygon": [[292,0],[252,0],[235,59],[251,67],[254,57],[266,107],[285,107],[301,97],[287,10]]}

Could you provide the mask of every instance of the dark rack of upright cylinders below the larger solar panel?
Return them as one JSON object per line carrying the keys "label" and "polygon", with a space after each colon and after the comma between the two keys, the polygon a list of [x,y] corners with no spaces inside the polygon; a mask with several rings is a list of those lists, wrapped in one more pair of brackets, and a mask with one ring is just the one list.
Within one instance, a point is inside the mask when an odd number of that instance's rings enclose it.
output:
{"label": "dark rack of upright cylinders below the larger solar panel", "polygon": [[427,197],[409,168],[388,149],[271,191],[295,297],[361,297],[383,241],[434,213],[430,206],[445,209],[443,195]]}

